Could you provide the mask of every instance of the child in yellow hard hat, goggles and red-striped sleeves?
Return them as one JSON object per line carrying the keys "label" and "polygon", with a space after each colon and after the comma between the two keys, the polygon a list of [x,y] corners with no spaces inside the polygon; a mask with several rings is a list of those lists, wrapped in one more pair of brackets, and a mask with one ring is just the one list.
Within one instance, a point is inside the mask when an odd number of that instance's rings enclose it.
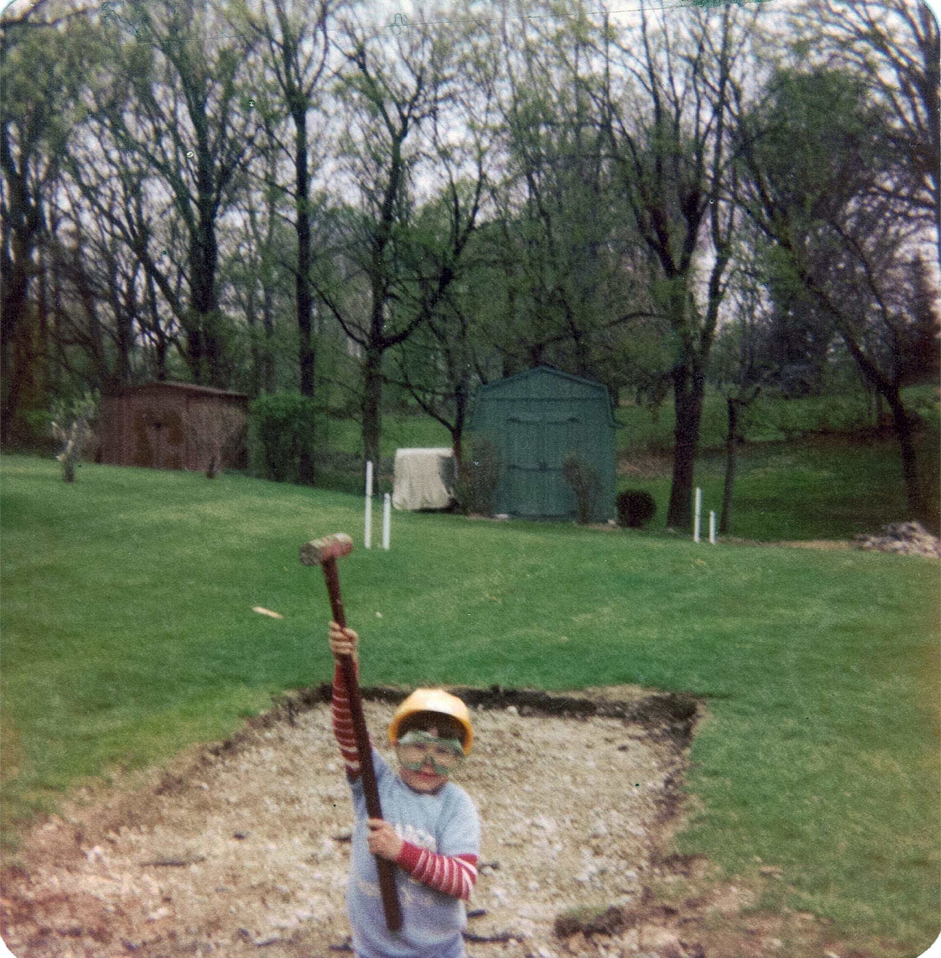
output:
{"label": "child in yellow hard hat, goggles and red-striped sleeves", "polygon": [[[334,658],[352,655],[358,636],[330,624]],[[355,826],[347,908],[356,958],[464,958],[464,901],[480,855],[480,819],[471,797],[448,781],[471,751],[467,706],[441,689],[418,689],[389,724],[398,772],[372,748],[384,818],[367,818],[349,701],[339,662],[333,673],[333,732],[353,791]],[[390,932],[374,855],[396,869],[402,929]]]}

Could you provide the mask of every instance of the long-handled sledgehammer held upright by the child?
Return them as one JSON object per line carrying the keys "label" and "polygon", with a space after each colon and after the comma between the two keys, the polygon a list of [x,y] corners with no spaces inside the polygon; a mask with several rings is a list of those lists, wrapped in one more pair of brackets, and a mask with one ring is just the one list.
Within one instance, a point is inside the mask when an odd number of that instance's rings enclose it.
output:
{"label": "long-handled sledgehammer held upright by the child", "polygon": [[[340,598],[340,580],[336,573],[336,560],[349,556],[351,552],[353,552],[353,539],[344,533],[314,539],[301,546],[301,561],[305,565],[319,565],[324,570],[324,582],[327,583],[333,621],[340,628],[346,628],[346,615],[343,612],[343,600]],[[338,661],[343,673],[343,684],[346,686],[346,696],[350,702],[350,715],[356,735],[356,752],[359,755],[359,773],[362,775],[366,811],[370,818],[381,818],[379,787],[376,785],[376,769],[373,767],[373,752],[369,745],[366,719],[362,714],[362,697],[359,695],[359,683],[356,681],[356,667],[350,655],[340,655]],[[376,867],[379,870],[379,890],[382,893],[385,925],[389,931],[398,931],[402,927],[402,909],[399,907],[399,895],[396,892],[395,863],[377,855]]]}

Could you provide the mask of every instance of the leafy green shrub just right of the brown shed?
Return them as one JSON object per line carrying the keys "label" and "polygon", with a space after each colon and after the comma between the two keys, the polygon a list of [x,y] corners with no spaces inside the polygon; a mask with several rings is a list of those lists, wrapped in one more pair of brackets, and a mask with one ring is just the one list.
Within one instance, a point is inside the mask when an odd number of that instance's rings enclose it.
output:
{"label": "leafy green shrub just right of the brown shed", "polygon": [[310,482],[313,463],[313,399],[300,393],[271,393],[254,399],[249,415],[262,447],[265,477],[277,482]]}

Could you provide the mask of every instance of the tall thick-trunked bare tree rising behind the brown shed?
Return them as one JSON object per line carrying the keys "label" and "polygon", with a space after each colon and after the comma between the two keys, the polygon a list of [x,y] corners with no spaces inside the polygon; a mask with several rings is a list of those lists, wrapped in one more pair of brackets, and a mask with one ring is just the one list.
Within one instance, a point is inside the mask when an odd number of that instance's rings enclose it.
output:
{"label": "tall thick-trunked bare tree rising behind the brown shed", "polygon": [[[218,218],[233,202],[238,174],[257,135],[239,76],[251,46],[213,34],[221,26],[207,4],[131,0],[134,19],[117,18],[112,39],[116,82],[103,93],[98,115],[115,145],[132,154],[150,184],[148,201],[169,194],[185,231],[188,295],[174,304],[184,358],[195,382],[228,385],[230,366],[218,302]],[[133,34],[133,38],[131,38]],[[212,39],[207,40],[211,35]],[[136,204],[149,214],[138,194]],[[153,284],[172,301],[149,216],[123,217],[126,241]]]}

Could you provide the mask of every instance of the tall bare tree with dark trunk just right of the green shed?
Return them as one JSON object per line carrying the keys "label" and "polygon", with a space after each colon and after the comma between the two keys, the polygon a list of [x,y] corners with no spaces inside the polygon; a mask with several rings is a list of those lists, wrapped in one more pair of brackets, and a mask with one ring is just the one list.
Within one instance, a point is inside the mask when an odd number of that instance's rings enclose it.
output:
{"label": "tall bare tree with dark trunk just right of the green shed", "polygon": [[746,18],[731,6],[642,10],[637,32],[619,39],[606,25],[602,37],[599,102],[609,154],[658,264],[654,299],[671,331],[676,428],[667,524],[677,528],[692,520],[706,364],[740,216],[729,134],[745,89]]}

